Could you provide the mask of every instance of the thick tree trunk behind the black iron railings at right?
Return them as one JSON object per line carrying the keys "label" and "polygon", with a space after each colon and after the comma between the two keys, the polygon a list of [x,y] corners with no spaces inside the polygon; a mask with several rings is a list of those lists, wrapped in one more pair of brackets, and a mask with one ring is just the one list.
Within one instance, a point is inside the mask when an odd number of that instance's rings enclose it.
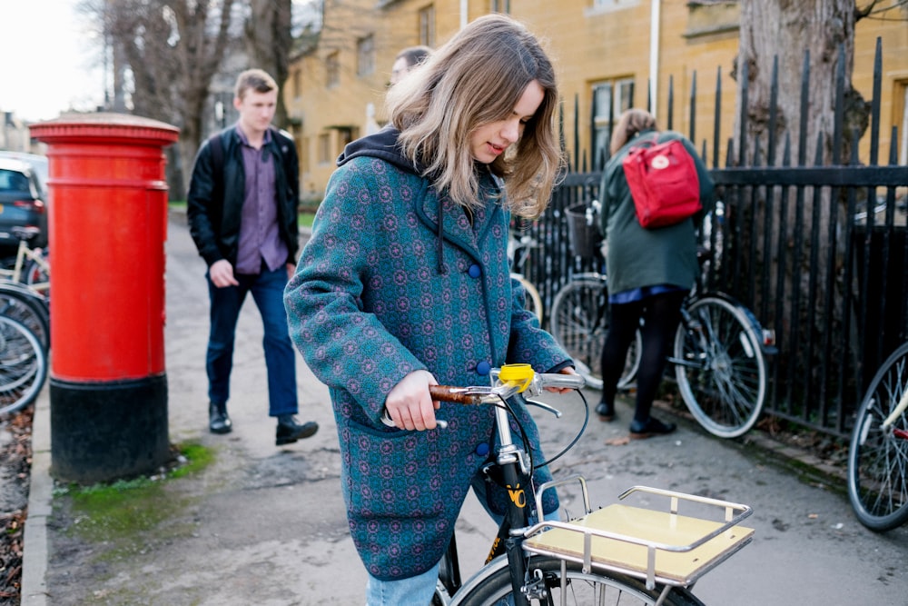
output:
{"label": "thick tree trunk behind the black iron railings at right", "polygon": [[[847,164],[851,151],[867,128],[869,108],[852,87],[854,66],[854,0],[741,0],[741,28],[739,55],[736,59],[735,79],[745,74],[746,107],[742,136],[741,105],[744,95],[737,95],[735,112],[736,164],[783,163],[783,150],[790,144],[791,164],[830,165]],[[777,99],[775,104],[775,132],[770,133],[770,104],[774,77],[774,61],[778,62]],[[841,153],[834,154],[835,104],[840,64],[844,73],[844,123],[838,144]],[[804,84],[804,74],[807,74]],[[739,91],[743,90],[739,82]],[[806,90],[806,110],[802,115],[802,90]],[[772,138],[771,138],[772,137]],[[775,141],[771,148],[770,140]],[[759,151],[757,151],[759,150]],[[827,354],[816,343],[822,342],[824,318],[820,317],[815,302],[824,284],[835,284],[841,294],[850,284],[841,281],[844,259],[844,238],[834,234],[845,233],[846,216],[844,200],[832,199],[831,190],[814,191],[814,188],[790,188],[787,199],[777,192],[747,192],[735,199],[726,218],[735,233],[740,228],[741,237],[735,238],[738,253],[745,260],[743,273],[754,274],[759,266],[771,268],[771,282],[782,285],[782,291],[756,292],[748,302],[758,308],[766,298],[784,301],[780,317],[773,320],[775,331],[781,337],[780,356],[776,368],[792,368],[785,362],[787,343],[806,339],[814,343],[808,347],[812,356]],[[767,196],[774,196],[767,205]],[[775,216],[765,214],[767,207],[774,208]],[[780,211],[780,208],[785,208]],[[770,223],[772,222],[772,223]],[[785,222],[785,233],[779,225]],[[772,229],[769,249],[765,249],[763,234]],[[832,256],[831,256],[832,255]],[[830,268],[826,259],[833,259]],[[779,280],[779,278],[782,278]],[[758,290],[758,289],[757,289]],[[834,301],[842,301],[835,296]],[[844,310],[834,312],[833,326],[841,326]],[[797,317],[794,326],[787,320]],[[764,322],[766,321],[763,319]],[[796,334],[801,327],[804,335]],[[792,333],[792,332],[795,333]],[[786,342],[785,340],[791,340]],[[807,376],[816,368],[817,360],[798,360],[796,374]],[[800,381],[800,377],[786,377],[780,373],[780,385]]]}

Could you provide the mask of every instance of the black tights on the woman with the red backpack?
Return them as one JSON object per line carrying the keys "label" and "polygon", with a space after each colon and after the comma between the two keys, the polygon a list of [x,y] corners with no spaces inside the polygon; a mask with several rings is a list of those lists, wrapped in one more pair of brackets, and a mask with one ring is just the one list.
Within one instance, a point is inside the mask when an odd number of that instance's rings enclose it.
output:
{"label": "black tights on the woman with the red backpack", "polygon": [[[675,341],[681,321],[684,291],[661,293],[642,301],[611,305],[611,322],[602,347],[602,402],[615,403],[618,379],[624,373],[627,348],[637,327],[643,336],[640,368],[637,370],[637,407],[634,419],[646,422],[656,399],[656,390],[666,370],[666,356]],[[643,318],[643,325],[640,319]]]}

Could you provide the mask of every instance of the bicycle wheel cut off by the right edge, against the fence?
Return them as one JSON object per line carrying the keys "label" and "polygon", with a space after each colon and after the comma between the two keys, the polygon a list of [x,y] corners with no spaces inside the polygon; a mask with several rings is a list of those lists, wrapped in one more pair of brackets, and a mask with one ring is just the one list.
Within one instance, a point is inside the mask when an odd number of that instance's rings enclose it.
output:
{"label": "bicycle wheel cut off by the right edge, against the fence", "polygon": [[883,532],[908,522],[908,412],[888,427],[908,392],[908,343],[880,366],[864,393],[848,449],[848,499],[859,522]]}

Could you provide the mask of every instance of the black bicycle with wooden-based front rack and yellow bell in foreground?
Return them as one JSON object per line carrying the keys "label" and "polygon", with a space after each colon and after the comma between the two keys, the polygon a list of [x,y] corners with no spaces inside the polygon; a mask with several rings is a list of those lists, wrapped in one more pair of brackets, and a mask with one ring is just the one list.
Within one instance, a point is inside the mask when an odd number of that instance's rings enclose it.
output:
{"label": "black bicycle with wooden-based front rack and yellow bell in foreground", "polygon": [[[690,587],[752,540],[753,529],[740,526],[752,510],[739,503],[635,486],[618,499],[625,501],[631,495],[646,501],[663,498],[668,501],[667,512],[621,503],[594,511],[580,475],[546,482],[534,490],[531,480],[537,465],[512,438],[509,408],[514,399],[538,396],[547,387],[579,390],[582,386],[578,375],[533,373],[528,364],[512,364],[493,369],[489,386],[431,388],[432,397],[440,401],[496,407],[498,448],[484,471],[489,477],[500,477],[499,483],[511,497],[485,566],[464,583],[460,582],[456,537],[452,536],[439,567],[433,604],[702,605]],[[582,393],[577,393],[582,399]],[[524,402],[561,415],[543,402]],[[587,406],[587,417],[588,413]],[[580,486],[585,513],[568,522],[532,522],[531,505],[535,504],[535,512],[542,512],[543,493],[571,482]],[[696,503],[695,507],[713,512],[711,517],[722,519],[681,515],[681,502]]]}

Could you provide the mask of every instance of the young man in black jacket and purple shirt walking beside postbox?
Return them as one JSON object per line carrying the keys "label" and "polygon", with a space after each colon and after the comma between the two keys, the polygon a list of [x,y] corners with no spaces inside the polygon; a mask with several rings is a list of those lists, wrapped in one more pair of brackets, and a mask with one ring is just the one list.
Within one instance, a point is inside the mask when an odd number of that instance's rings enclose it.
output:
{"label": "young man in black jacket and purple shirt walking beside postbox", "polygon": [[252,293],[264,324],[269,414],[277,418],[280,446],[310,437],[318,425],[294,416],[296,366],[283,289],[299,249],[299,164],[290,135],[271,126],[277,98],[277,84],[262,70],[237,78],[233,106],[240,119],[202,144],[192,168],[187,213],[192,240],[208,263],[209,429],[232,430],[227,400],[233,337],[242,303]]}

